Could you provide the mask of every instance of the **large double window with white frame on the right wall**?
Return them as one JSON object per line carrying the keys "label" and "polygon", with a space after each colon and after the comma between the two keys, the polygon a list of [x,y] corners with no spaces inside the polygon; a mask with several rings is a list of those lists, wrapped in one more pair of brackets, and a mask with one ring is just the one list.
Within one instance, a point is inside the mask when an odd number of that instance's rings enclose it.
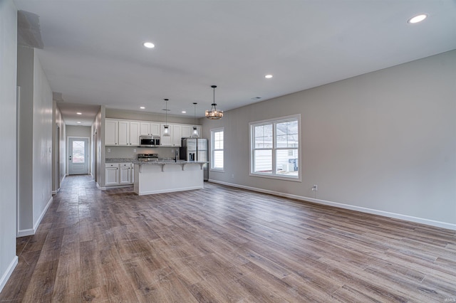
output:
{"label": "large double window with white frame on the right wall", "polygon": [[301,115],[250,123],[250,174],[301,181],[299,129]]}

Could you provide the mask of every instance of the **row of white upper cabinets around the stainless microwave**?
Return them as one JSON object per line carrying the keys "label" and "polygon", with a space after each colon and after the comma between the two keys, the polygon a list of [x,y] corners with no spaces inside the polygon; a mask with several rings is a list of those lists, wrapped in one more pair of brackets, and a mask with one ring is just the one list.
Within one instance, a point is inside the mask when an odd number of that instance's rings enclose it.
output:
{"label": "row of white upper cabinets around the stainless microwave", "polygon": [[[162,147],[180,147],[182,137],[192,137],[193,125],[168,124],[170,137],[164,137],[165,124],[159,122],[129,121],[124,119],[105,119],[105,145],[120,147],[139,147],[140,135],[160,137]],[[197,126],[201,135],[201,126]]]}

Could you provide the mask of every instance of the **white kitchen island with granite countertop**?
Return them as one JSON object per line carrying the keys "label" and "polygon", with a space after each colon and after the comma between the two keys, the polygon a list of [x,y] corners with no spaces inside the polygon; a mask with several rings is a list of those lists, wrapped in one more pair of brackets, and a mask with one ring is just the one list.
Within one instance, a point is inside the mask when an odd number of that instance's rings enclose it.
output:
{"label": "white kitchen island with granite countertop", "polygon": [[135,161],[134,191],[139,196],[204,188],[207,161]]}

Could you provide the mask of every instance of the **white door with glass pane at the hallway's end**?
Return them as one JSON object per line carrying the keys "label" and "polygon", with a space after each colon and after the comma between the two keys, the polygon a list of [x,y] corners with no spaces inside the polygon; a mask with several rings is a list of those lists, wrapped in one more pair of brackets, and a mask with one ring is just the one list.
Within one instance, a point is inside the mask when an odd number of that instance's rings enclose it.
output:
{"label": "white door with glass pane at the hallway's end", "polygon": [[88,174],[88,138],[68,138],[68,174]]}

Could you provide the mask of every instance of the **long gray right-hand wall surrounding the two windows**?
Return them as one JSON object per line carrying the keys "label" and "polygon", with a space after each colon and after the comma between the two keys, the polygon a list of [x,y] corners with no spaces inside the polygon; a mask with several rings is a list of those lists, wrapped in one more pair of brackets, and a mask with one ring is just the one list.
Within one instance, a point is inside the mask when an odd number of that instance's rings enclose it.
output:
{"label": "long gray right-hand wall surrounding the two windows", "polygon": [[[249,122],[294,114],[302,181],[249,176]],[[455,117],[452,50],[200,122],[224,127],[212,181],[456,229]]]}

